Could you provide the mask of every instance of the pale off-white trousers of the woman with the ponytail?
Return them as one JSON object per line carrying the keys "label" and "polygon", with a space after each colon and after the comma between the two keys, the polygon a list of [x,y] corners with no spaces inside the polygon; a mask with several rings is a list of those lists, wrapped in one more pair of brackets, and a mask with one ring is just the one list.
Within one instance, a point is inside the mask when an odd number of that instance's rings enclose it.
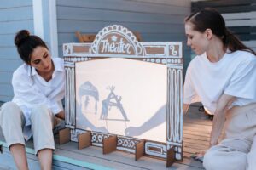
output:
{"label": "pale off-white trousers of the woman with the ponytail", "polygon": [[227,112],[225,139],[207,150],[207,170],[256,170],[256,104]]}

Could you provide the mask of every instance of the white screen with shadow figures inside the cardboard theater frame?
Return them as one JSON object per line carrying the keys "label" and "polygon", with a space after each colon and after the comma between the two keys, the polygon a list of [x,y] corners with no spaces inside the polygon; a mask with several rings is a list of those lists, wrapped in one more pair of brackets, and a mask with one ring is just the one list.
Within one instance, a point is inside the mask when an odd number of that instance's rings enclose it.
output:
{"label": "white screen with shadow figures inside the cardboard theater frame", "polygon": [[75,69],[76,128],[166,143],[166,65],[107,58]]}

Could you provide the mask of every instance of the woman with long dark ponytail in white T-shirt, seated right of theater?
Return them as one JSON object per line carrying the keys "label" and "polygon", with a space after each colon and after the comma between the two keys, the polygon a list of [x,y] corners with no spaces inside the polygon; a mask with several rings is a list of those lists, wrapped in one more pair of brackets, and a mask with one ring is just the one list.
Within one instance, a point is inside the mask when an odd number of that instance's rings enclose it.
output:
{"label": "woman with long dark ponytail in white T-shirt, seated right of theater", "polygon": [[[187,44],[195,51],[185,77],[183,111],[201,101],[212,115],[208,170],[256,169],[256,57],[211,8],[185,19]],[[224,129],[225,138],[218,144]]]}

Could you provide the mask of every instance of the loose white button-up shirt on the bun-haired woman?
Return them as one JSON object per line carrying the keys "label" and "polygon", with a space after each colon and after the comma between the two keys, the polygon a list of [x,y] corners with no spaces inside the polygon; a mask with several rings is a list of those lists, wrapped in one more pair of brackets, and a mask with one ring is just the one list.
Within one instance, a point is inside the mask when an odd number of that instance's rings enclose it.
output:
{"label": "loose white button-up shirt on the bun-haired woman", "polygon": [[61,99],[65,94],[65,70],[64,61],[61,58],[53,58],[55,71],[52,79],[46,82],[38,75],[34,67],[20,65],[14,72],[12,85],[15,97],[12,100],[20,106],[26,120],[26,127],[23,129],[25,139],[31,137],[30,116],[34,105],[47,105],[52,113],[57,114],[63,110]]}

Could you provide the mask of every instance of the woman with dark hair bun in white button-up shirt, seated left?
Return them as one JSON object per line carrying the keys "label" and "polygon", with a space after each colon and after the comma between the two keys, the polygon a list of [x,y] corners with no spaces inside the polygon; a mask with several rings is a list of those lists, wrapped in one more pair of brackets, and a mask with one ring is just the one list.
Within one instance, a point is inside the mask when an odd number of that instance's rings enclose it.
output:
{"label": "woman with dark hair bun in white button-up shirt, seated left", "polygon": [[[60,58],[51,58],[45,42],[29,31],[15,36],[23,65],[14,72],[14,99],[0,110],[0,126],[18,169],[28,169],[25,140],[33,136],[42,169],[51,169],[55,150],[53,128],[64,119],[65,71]],[[57,117],[57,118],[56,118]]]}

